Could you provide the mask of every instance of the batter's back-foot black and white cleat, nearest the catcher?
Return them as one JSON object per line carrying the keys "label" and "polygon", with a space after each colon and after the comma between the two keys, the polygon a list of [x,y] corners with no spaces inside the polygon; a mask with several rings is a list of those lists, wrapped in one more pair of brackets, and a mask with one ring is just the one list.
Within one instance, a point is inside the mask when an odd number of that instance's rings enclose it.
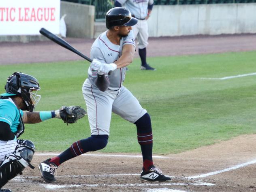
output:
{"label": "batter's back-foot black and white cleat, nearest the catcher", "polygon": [[56,175],[56,169],[58,168],[57,165],[55,165],[52,162],[49,162],[49,160],[51,159],[47,159],[38,165],[41,175],[45,180],[45,182],[47,183],[56,181],[55,175]]}

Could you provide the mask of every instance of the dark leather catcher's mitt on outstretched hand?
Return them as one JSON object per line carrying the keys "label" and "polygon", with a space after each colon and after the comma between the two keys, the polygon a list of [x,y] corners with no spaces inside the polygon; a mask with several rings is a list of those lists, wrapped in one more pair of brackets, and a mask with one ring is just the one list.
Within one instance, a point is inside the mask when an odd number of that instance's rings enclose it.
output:
{"label": "dark leather catcher's mitt on outstretched hand", "polygon": [[77,122],[77,119],[81,119],[85,115],[86,111],[79,106],[60,107],[60,117],[67,125]]}

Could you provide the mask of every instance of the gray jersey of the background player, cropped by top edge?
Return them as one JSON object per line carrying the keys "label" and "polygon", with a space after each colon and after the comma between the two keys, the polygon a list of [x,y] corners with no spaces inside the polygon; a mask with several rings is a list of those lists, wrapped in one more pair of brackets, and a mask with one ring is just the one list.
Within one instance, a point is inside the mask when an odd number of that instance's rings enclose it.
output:
{"label": "gray jersey of the background player, cropped by top edge", "polygon": [[122,6],[129,11],[137,19],[145,19],[147,16],[147,6],[152,5],[154,0],[117,0]]}

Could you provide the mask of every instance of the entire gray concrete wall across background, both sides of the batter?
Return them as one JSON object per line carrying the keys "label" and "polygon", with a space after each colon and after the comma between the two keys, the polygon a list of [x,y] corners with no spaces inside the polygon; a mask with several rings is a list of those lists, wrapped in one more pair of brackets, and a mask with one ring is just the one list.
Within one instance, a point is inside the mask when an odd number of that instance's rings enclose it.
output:
{"label": "entire gray concrete wall across background, both sides of the batter", "polygon": [[[96,38],[106,30],[104,23],[95,25],[94,11],[94,6],[61,1],[67,37]],[[256,33],[256,3],[155,5],[147,22],[150,37]],[[41,35],[0,35],[0,42],[45,39]]]}

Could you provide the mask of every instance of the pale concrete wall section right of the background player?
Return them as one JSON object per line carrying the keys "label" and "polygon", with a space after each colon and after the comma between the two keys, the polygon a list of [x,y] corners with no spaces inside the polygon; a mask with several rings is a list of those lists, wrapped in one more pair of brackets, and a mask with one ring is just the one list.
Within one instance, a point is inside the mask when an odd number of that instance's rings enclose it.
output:
{"label": "pale concrete wall section right of the background player", "polygon": [[256,33],[256,3],[156,5],[149,36]]}

